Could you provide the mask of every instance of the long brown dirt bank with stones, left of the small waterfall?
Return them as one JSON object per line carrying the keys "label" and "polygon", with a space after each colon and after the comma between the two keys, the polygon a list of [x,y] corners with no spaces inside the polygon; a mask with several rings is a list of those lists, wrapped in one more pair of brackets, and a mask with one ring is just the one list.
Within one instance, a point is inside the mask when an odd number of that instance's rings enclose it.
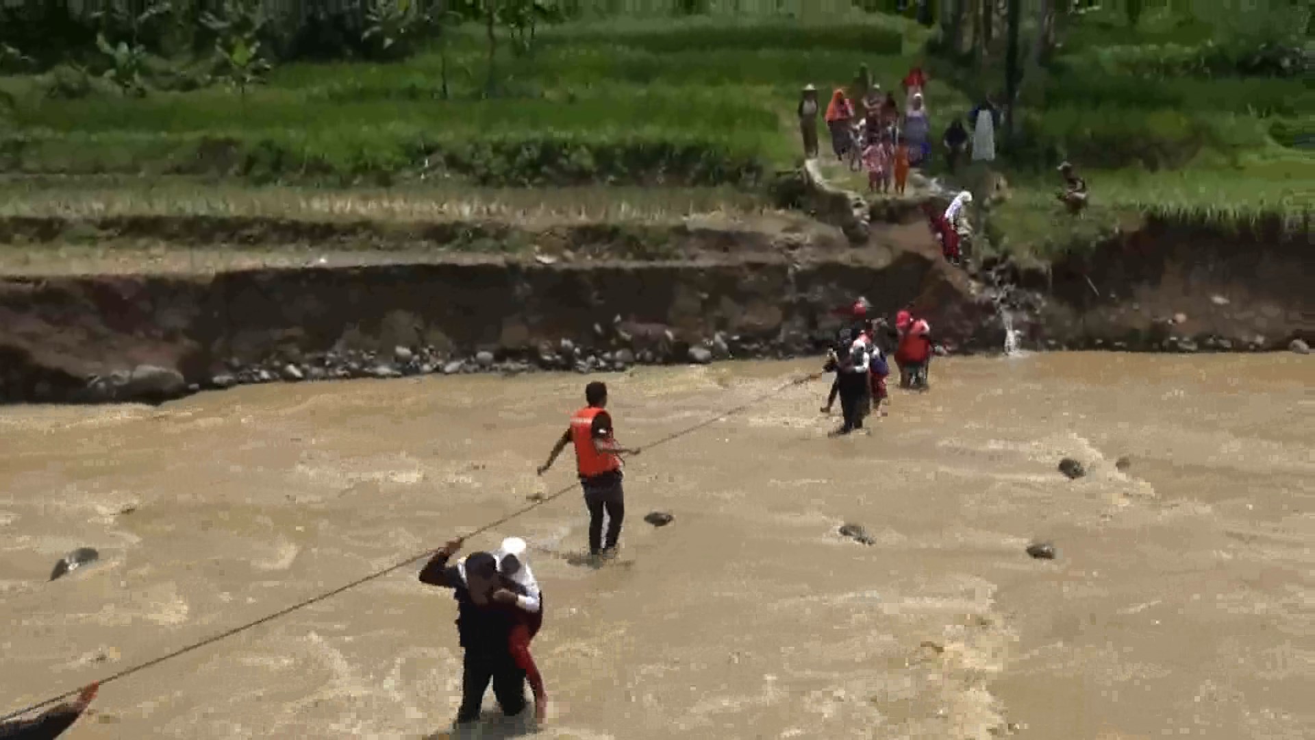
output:
{"label": "long brown dirt bank with stones, left of the small waterfall", "polygon": [[[694,230],[673,237],[679,259],[660,262],[590,259],[575,244],[560,258],[14,277],[0,280],[0,398],[786,357],[828,344],[832,311],[856,295],[885,315],[923,305],[956,345],[998,346],[982,321],[990,303],[976,302],[930,237],[906,232],[852,249],[839,234]],[[736,242],[743,251],[727,248]]]}

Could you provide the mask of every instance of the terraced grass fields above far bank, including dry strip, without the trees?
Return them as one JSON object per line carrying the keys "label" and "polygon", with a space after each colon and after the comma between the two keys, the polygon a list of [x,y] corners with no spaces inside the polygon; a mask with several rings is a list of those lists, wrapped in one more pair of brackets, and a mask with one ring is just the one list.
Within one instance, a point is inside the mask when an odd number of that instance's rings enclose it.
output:
{"label": "terraced grass fields above far bank, including dry strip, without the trees", "polygon": [[[806,8],[798,18],[648,14],[546,29],[531,57],[500,59],[493,99],[481,96],[476,29],[447,43],[447,97],[437,49],[400,63],[288,65],[246,96],[209,88],[138,100],[97,84],[62,100],[47,95],[49,75],[0,78],[16,101],[0,119],[7,172],[231,183],[9,184],[0,186],[0,211],[565,220],[753,212],[760,186],[798,162],[798,90],[813,83],[825,96],[860,65],[894,90],[928,33],[905,18]],[[1148,12],[1132,30],[1116,14],[1084,18],[1049,74],[1024,88],[1020,140],[997,162],[1014,196],[989,213],[995,248],[1044,259],[1147,211],[1223,220],[1308,212],[1308,82],[1191,71],[1193,54],[1230,22]],[[1001,86],[972,74],[934,79],[934,133]],[[1093,188],[1081,221],[1053,200],[1063,158]]]}

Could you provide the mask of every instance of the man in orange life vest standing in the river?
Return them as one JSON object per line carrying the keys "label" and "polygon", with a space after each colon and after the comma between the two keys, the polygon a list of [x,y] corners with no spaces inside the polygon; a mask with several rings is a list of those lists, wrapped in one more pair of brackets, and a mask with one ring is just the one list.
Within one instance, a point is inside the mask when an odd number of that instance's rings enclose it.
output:
{"label": "man in orange life vest standing in the river", "polygon": [[[585,386],[588,406],[575,412],[571,425],[554,445],[548,461],[539,467],[543,475],[556,462],[567,445],[575,445],[576,471],[584,487],[584,503],[589,507],[589,554],[611,557],[621,539],[621,523],[626,516],[625,494],[621,490],[621,456],[639,454],[639,448],[617,445],[613,436],[611,415],[608,406],[608,386],[593,382]],[[608,515],[608,539],[602,539],[602,515]]]}

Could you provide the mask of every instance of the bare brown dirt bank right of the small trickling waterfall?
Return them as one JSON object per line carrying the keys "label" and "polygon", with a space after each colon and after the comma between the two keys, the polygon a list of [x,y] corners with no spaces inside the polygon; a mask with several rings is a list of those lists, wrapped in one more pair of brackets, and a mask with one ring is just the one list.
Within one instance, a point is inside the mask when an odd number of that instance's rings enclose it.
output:
{"label": "bare brown dirt bank right of the small trickling waterfall", "polygon": [[1151,220],[1018,280],[1047,298],[1034,338],[1049,346],[1269,350],[1315,338],[1312,265],[1308,228]]}

